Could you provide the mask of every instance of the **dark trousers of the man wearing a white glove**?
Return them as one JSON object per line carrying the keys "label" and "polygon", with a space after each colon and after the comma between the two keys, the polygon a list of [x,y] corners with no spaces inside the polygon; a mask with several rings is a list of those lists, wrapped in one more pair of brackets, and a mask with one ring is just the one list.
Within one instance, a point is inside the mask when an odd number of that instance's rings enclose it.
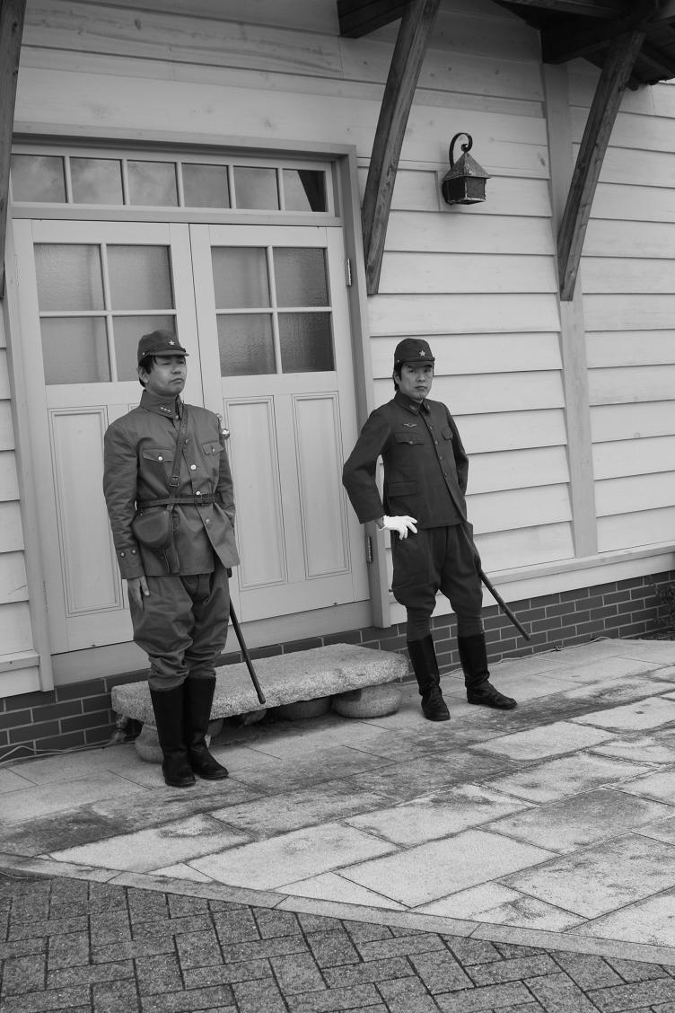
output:
{"label": "dark trousers of the man wearing a white glove", "polygon": [[439,591],[457,617],[457,636],[483,632],[483,590],[476,553],[459,525],[422,528],[407,538],[394,536],[392,555],[392,591],[406,607],[408,640],[429,635]]}

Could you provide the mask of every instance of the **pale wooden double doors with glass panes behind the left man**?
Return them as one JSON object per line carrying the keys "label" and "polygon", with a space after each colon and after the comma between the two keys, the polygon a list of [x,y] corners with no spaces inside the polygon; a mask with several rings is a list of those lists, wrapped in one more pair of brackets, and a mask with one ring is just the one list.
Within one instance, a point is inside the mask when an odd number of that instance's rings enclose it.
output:
{"label": "pale wooden double doors with glass panes behind the left man", "polygon": [[175,329],[184,397],[223,416],[243,621],[367,598],[340,482],[356,438],[339,228],[16,221],[21,339],[55,653],[131,639],[101,493],[136,345]]}

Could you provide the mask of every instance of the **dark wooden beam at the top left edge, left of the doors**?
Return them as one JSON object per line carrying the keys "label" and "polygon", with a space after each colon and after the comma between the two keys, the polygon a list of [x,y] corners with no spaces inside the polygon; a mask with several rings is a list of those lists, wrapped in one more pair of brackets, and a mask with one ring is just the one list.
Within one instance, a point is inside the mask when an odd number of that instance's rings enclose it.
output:
{"label": "dark wooden beam at the top left edge, left of the doors", "polygon": [[9,163],[25,0],[0,0],[0,299],[5,291]]}

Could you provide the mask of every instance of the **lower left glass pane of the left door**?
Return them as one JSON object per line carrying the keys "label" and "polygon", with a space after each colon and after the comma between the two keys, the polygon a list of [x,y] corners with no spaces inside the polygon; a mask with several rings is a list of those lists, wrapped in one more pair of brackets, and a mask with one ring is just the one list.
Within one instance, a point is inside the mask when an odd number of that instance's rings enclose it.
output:
{"label": "lower left glass pane of the left door", "polygon": [[45,382],[105,383],[110,379],[103,317],[40,321]]}

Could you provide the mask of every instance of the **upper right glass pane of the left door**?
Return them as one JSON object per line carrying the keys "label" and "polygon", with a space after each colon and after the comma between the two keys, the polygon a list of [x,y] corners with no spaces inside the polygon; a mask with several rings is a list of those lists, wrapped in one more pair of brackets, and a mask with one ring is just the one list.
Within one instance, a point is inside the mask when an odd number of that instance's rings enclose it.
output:
{"label": "upper right glass pane of the left door", "polygon": [[168,246],[108,246],[113,310],[173,309]]}

